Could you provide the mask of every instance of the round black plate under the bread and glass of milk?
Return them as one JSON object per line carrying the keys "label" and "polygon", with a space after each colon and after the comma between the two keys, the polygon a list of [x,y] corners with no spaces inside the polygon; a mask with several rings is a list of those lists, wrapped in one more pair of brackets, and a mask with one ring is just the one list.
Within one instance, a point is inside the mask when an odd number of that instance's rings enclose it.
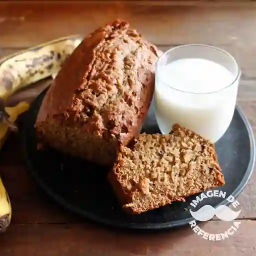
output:
{"label": "round black plate under the bread and glass of milk", "polygon": [[[109,186],[107,169],[84,160],[63,155],[53,149],[36,150],[34,121],[46,90],[31,105],[25,116],[23,140],[26,161],[37,183],[58,203],[90,220],[116,227],[160,229],[187,224],[192,217],[187,210],[195,196],[186,202],[170,205],[131,216],[123,212]],[[159,132],[153,104],[141,131]],[[250,125],[239,107],[235,108],[232,122],[216,143],[216,151],[226,184],[221,188],[236,197],[246,185],[254,165],[254,138]],[[226,200],[212,197],[205,203],[217,206]]]}

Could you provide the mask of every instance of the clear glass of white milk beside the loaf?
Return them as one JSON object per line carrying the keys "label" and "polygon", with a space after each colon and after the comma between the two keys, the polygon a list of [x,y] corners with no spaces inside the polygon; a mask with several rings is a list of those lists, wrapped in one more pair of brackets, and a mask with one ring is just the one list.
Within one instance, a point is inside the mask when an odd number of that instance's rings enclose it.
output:
{"label": "clear glass of white milk beside the loaf", "polygon": [[155,71],[155,115],[160,131],[174,123],[216,142],[227,130],[237,96],[240,68],[226,51],[203,44],[167,50]]}

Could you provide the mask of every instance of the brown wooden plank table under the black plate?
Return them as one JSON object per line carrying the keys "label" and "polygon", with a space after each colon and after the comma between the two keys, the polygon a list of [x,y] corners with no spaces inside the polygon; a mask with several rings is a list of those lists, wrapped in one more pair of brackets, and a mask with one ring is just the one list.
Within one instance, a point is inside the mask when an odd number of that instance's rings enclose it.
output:
{"label": "brown wooden plank table under the black plate", "polygon": [[[87,34],[116,17],[130,21],[160,48],[207,43],[235,56],[242,70],[238,104],[256,132],[256,3],[252,1],[119,1],[94,3],[0,3],[0,56],[59,36]],[[223,241],[207,241],[189,227],[160,233],[110,230],[64,211],[33,182],[18,134],[0,151],[0,175],[13,217],[0,236],[1,256],[30,255],[255,255],[256,173],[238,197],[238,231]],[[223,230],[223,221],[203,228]]]}

